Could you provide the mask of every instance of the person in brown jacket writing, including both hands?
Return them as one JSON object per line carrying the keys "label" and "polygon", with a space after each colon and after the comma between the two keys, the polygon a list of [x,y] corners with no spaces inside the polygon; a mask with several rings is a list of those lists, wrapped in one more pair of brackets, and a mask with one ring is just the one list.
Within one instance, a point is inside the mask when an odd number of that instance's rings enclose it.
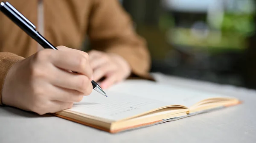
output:
{"label": "person in brown jacket writing, including both hands", "polygon": [[[145,40],[118,0],[9,0],[58,50],[44,49],[0,13],[0,105],[40,115],[69,109],[131,76],[151,79]],[[88,35],[93,50],[81,51]],[[70,70],[78,73],[69,72]]]}

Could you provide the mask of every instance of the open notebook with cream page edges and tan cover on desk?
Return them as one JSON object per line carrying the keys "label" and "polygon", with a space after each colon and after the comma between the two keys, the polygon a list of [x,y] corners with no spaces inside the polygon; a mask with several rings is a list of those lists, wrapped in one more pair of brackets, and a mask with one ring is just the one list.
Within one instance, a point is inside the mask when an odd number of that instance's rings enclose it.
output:
{"label": "open notebook with cream page edges and tan cover on desk", "polygon": [[127,80],[105,92],[108,97],[93,91],[71,109],[54,115],[116,133],[240,103],[238,99],[225,95],[146,80]]}

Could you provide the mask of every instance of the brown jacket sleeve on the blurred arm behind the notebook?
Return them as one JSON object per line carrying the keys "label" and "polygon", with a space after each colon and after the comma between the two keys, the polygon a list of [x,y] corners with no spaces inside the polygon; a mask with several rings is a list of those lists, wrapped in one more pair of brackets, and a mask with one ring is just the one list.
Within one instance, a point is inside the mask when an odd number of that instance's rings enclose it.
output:
{"label": "brown jacket sleeve on the blurred arm behind the notebook", "polygon": [[150,78],[146,41],[134,31],[131,17],[119,0],[94,0],[88,36],[93,49],[119,54],[130,64],[132,74]]}

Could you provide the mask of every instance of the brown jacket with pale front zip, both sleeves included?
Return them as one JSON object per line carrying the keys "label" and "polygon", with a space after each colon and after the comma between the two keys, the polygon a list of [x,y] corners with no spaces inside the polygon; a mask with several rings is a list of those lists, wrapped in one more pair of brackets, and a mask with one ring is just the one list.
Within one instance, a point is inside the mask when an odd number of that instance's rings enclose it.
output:
{"label": "brown jacket with pale front zip, both sleeves included", "polygon": [[[38,25],[39,0],[8,0],[33,24]],[[148,75],[150,55],[145,40],[118,0],[43,0],[44,37],[53,45],[80,49],[85,36],[95,50],[125,58],[134,75]],[[38,50],[38,44],[0,12],[0,104],[6,73],[15,62]]]}

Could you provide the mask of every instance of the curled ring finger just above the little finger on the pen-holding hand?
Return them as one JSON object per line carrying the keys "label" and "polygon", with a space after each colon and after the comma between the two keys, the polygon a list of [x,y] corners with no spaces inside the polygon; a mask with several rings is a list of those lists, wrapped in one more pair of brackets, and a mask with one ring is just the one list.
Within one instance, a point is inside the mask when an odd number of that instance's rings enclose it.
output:
{"label": "curled ring finger just above the little finger on the pen-holding hand", "polygon": [[50,100],[52,101],[62,101],[62,102],[80,102],[83,99],[83,93],[70,90],[66,88],[56,87],[50,85],[49,92],[51,93]]}

